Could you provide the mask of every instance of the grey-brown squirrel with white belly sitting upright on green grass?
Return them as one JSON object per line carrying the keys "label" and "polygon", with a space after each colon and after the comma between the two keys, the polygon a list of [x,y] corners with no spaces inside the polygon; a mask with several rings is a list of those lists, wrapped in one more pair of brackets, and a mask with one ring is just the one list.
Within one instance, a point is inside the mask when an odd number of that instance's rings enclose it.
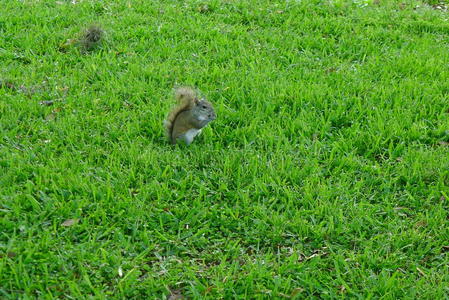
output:
{"label": "grey-brown squirrel with white belly sitting upright on green grass", "polygon": [[181,140],[190,145],[202,128],[215,120],[217,115],[212,104],[204,98],[199,99],[189,87],[176,89],[175,98],[178,105],[164,121],[166,134],[172,144]]}

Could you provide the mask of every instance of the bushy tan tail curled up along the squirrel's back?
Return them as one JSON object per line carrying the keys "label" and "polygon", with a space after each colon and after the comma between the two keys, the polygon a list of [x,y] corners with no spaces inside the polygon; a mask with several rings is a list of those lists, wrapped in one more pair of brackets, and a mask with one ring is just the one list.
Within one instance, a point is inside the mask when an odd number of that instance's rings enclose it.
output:
{"label": "bushy tan tail curled up along the squirrel's back", "polygon": [[170,111],[167,119],[164,120],[165,134],[172,143],[174,143],[172,132],[176,117],[179,113],[192,109],[195,98],[195,91],[189,87],[180,87],[175,90],[175,99],[178,102],[178,105]]}

